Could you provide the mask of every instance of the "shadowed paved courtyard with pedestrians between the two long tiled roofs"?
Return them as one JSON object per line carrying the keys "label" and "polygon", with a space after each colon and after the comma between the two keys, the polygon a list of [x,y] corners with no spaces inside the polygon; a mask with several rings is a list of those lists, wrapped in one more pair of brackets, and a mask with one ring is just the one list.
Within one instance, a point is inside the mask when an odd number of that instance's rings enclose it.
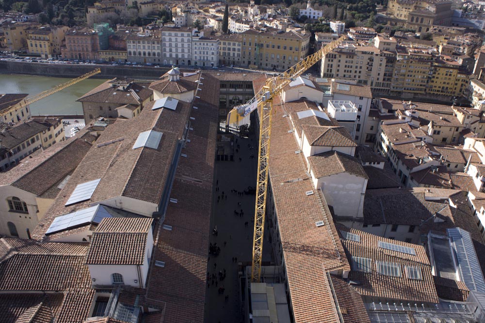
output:
{"label": "shadowed paved courtyard with pedestrians between the two long tiled roofs", "polygon": [[[234,161],[217,161],[215,166],[216,187],[210,221],[210,243],[214,245],[214,250],[220,248],[220,252],[217,256],[209,254],[206,323],[241,322],[242,303],[237,263],[251,263],[256,196],[243,192],[248,186],[256,186],[258,146],[257,140],[251,138],[237,138],[234,144],[235,148],[239,145]],[[212,234],[215,226],[217,236]],[[268,234],[264,240],[266,248],[263,260],[270,261]],[[220,287],[224,288],[224,292]]]}

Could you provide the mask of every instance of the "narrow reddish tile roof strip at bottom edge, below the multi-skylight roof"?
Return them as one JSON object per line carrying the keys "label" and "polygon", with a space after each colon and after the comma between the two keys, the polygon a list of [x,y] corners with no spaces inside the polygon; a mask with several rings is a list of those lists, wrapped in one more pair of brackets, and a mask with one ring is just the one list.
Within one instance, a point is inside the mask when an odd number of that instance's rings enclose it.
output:
{"label": "narrow reddish tile roof strip at bottom edge, below the multi-skylight roof", "polygon": [[344,323],[370,323],[362,296],[341,277],[330,277]]}

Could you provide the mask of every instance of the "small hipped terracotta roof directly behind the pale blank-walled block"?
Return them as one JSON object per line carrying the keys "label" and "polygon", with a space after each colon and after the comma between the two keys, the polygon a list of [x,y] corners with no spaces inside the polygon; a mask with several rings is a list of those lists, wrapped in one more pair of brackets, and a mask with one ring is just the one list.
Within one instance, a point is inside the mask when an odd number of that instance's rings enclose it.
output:
{"label": "small hipped terracotta roof directly behind the pale blank-walled block", "polygon": [[312,146],[356,147],[349,132],[342,126],[302,125],[305,137]]}

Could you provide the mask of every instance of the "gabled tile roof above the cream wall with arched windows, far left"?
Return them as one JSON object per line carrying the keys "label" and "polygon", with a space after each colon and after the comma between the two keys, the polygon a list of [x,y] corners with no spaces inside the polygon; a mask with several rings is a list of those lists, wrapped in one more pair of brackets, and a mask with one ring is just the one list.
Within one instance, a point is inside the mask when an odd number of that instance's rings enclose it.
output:
{"label": "gabled tile roof above the cream wall with arched windows, far left", "polygon": [[71,173],[90,148],[89,142],[77,138],[56,143],[32,158],[23,159],[13,169],[0,173],[0,183],[40,196]]}

